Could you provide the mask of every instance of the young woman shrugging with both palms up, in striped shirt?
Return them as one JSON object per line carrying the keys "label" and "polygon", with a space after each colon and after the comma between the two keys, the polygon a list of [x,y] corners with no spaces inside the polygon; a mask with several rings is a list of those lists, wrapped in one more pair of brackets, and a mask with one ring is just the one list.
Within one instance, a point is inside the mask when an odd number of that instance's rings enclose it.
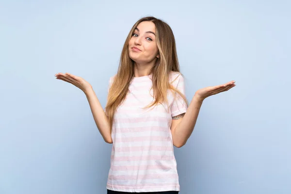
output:
{"label": "young woman shrugging with both palms up, in striped shirt", "polygon": [[105,109],[81,77],[58,73],[86,95],[103,139],[112,146],[108,194],[178,194],[174,148],[186,144],[203,100],[235,81],[196,91],[190,105],[168,24],[144,17],[131,28],[117,74],[109,80]]}

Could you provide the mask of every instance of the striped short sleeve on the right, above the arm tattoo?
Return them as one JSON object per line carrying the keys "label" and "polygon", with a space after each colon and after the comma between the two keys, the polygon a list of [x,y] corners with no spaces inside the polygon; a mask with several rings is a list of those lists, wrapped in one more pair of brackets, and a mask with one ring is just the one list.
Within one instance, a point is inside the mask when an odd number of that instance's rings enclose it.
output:
{"label": "striped short sleeve on the right, above the arm tattoo", "polygon": [[[178,73],[172,76],[173,82],[172,85],[180,91],[184,96],[185,94],[185,82],[182,74]],[[171,105],[171,115],[172,117],[177,116],[182,113],[186,113],[188,105],[185,102],[185,100],[177,93],[175,92],[176,98],[174,98],[174,101]]]}

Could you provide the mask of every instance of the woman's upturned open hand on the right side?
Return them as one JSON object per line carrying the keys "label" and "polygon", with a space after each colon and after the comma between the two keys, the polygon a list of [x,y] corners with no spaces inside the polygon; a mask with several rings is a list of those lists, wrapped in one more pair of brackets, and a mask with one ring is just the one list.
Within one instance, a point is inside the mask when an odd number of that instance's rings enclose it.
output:
{"label": "woman's upturned open hand on the right side", "polygon": [[206,88],[202,88],[196,91],[195,96],[203,101],[205,98],[210,97],[212,95],[216,95],[221,92],[225,92],[230,88],[236,86],[235,81],[229,81],[222,85],[210,86]]}

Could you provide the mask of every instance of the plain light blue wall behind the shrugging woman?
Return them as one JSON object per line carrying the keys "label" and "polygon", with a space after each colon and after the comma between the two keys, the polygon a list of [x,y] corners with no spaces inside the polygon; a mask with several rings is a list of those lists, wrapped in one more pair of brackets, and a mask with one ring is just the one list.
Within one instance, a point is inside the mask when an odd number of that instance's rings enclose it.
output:
{"label": "plain light blue wall behind the shrugging woman", "polygon": [[172,27],[189,100],[207,98],[175,148],[180,194],[291,193],[291,3],[283,0],[1,0],[0,194],[105,194],[111,144],[69,72],[102,106],[132,25]]}

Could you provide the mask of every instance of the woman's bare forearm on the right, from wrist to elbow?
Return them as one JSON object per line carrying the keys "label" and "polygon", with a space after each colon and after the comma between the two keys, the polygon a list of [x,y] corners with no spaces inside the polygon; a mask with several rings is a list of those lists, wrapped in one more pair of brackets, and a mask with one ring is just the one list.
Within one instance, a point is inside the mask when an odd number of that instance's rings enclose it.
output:
{"label": "woman's bare forearm on the right, from wrist to elbow", "polygon": [[174,137],[179,145],[185,145],[192,134],[202,103],[203,100],[194,95],[182,121],[177,125]]}

